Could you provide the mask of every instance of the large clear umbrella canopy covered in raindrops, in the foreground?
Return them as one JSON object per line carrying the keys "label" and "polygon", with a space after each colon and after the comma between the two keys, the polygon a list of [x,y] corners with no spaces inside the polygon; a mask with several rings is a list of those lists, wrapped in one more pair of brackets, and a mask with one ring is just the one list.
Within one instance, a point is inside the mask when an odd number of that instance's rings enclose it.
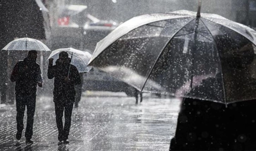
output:
{"label": "large clear umbrella canopy covered in raindrops, in the foreground", "polygon": [[[102,39],[89,64],[142,92],[228,104],[256,99],[255,44],[254,30],[216,14],[146,14]],[[113,66],[120,73],[109,70]],[[126,68],[132,72],[121,73]],[[202,83],[211,90],[193,91]]]}

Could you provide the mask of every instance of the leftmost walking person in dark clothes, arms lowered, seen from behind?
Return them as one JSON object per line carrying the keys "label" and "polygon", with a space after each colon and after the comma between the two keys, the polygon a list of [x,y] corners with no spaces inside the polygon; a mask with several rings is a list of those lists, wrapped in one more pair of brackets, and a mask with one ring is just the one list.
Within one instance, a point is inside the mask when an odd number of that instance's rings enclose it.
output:
{"label": "leftmost walking person in dark clothes, arms lowered, seen from behind", "polygon": [[17,107],[17,134],[16,139],[22,137],[24,128],[23,118],[25,108],[27,107],[27,126],[25,131],[26,143],[32,144],[33,121],[36,108],[36,91],[37,85],[43,86],[41,69],[36,63],[37,52],[31,50],[28,52],[28,57],[23,61],[19,61],[13,68],[11,81],[16,81],[16,107]]}

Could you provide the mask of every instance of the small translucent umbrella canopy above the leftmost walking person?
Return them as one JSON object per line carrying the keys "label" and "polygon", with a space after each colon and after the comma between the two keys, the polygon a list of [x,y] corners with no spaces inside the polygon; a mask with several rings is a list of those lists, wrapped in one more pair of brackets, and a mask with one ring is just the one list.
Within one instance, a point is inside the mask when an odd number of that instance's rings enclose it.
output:
{"label": "small translucent umbrella canopy above the leftmost walking person", "polygon": [[51,51],[41,41],[32,38],[19,38],[8,43],[2,50],[19,50],[19,51]]}

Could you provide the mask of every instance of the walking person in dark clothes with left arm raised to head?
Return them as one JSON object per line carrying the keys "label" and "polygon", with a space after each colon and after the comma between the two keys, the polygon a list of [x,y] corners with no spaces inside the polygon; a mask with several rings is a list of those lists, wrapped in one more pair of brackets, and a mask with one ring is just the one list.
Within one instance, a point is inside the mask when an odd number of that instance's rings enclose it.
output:
{"label": "walking person in dark clothes with left arm raised to head", "polygon": [[[71,126],[71,114],[75,101],[74,85],[81,83],[77,68],[70,64],[67,52],[60,52],[56,65],[53,59],[49,59],[48,78],[54,78],[53,101],[55,103],[56,124],[59,131],[59,144],[68,144],[69,129]],[[65,125],[62,117],[65,113]]]}

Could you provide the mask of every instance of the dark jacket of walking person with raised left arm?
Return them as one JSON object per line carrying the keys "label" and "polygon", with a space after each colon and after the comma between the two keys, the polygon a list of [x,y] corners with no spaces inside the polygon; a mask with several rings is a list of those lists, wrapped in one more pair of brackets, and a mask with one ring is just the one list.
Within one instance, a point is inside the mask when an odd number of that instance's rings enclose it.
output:
{"label": "dark jacket of walking person with raised left arm", "polygon": [[[69,69],[70,67],[70,69]],[[68,76],[69,71],[69,76]],[[67,82],[65,78],[69,77],[70,81]],[[70,64],[69,61],[61,63],[59,59],[56,61],[56,65],[49,64],[48,66],[48,78],[54,78],[54,102],[60,99],[60,97],[69,98],[70,101],[74,101],[75,88],[74,85],[81,83],[80,75],[77,67]]]}

